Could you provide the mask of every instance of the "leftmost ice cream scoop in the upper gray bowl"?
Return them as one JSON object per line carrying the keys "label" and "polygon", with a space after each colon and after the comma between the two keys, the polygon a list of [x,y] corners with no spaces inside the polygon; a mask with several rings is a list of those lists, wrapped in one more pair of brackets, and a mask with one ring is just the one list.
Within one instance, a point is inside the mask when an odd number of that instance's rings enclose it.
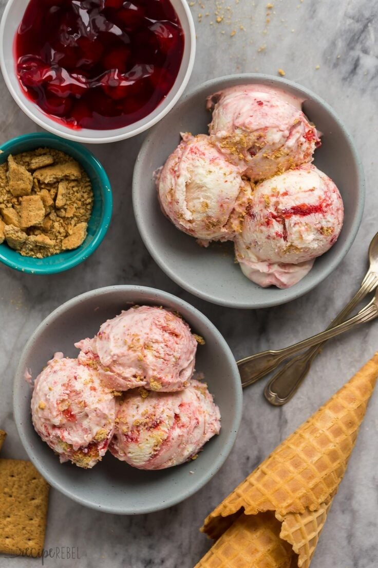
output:
{"label": "leftmost ice cream scoop in the upper gray bowl", "polygon": [[230,240],[240,232],[250,184],[211,144],[209,136],[183,135],[158,170],[156,185],[168,219],[202,244]]}

